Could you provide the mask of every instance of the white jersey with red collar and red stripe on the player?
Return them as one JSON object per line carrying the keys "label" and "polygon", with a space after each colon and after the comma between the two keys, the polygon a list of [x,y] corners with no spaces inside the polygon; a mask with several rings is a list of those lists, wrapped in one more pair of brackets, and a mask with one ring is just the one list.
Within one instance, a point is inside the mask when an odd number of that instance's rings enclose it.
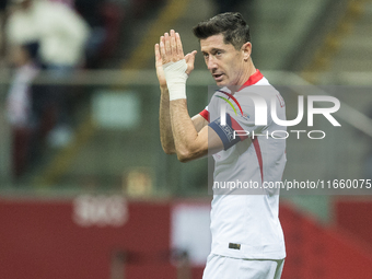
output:
{"label": "white jersey with red collar and red stripe on the player", "polygon": [[[236,258],[282,259],[286,248],[278,218],[279,193],[263,186],[280,182],[284,170],[286,140],[277,138],[286,136],[286,127],[272,120],[271,100],[282,120],[286,119],[284,102],[258,70],[240,91],[230,93],[226,88],[217,91],[207,107],[209,126],[224,144],[224,150],[213,154],[211,253]],[[256,125],[252,98],[255,94],[267,104],[266,125]],[[220,109],[226,100],[230,105],[226,105],[226,124],[222,125]],[[201,113],[204,117],[207,111]],[[274,131],[275,138],[270,137]],[[248,187],[254,186],[258,189],[251,191]]]}

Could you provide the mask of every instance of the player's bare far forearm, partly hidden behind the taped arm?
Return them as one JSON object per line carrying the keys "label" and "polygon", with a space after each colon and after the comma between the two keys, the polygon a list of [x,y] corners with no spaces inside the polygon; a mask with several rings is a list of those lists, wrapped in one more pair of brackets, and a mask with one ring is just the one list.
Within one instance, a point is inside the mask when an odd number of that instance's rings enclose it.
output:
{"label": "player's bare far forearm, partly hidden behind the taped arm", "polygon": [[160,88],[160,109],[159,109],[159,124],[160,124],[160,141],[165,153],[174,154],[176,152],[173,131],[171,124],[170,113],[170,93],[167,88]]}

